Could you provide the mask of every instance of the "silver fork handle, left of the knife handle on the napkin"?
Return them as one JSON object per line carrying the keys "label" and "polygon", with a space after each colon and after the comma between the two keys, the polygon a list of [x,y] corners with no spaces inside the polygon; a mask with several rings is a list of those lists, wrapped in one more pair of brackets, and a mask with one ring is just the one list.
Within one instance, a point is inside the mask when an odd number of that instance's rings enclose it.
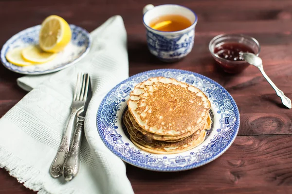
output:
{"label": "silver fork handle, left of the knife handle on the napkin", "polygon": [[73,109],[72,113],[70,114],[69,121],[67,124],[67,128],[65,130],[65,134],[63,136],[61,145],[59,146],[58,152],[55,156],[54,162],[50,168],[50,174],[53,178],[58,178],[63,173],[63,165],[67,158],[69,152],[70,141],[72,137],[72,130],[74,124],[74,118],[77,113],[77,109]]}

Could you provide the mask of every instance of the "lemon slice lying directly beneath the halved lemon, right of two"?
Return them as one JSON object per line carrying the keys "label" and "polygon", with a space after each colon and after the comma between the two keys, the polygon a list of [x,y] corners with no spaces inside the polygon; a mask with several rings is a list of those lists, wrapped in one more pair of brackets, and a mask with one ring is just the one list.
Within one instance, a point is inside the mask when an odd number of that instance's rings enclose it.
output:
{"label": "lemon slice lying directly beneath the halved lemon, right of two", "polygon": [[21,51],[25,61],[37,64],[43,64],[52,61],[57,56],[57,53],[44,52],[37,46],[29,46]]}

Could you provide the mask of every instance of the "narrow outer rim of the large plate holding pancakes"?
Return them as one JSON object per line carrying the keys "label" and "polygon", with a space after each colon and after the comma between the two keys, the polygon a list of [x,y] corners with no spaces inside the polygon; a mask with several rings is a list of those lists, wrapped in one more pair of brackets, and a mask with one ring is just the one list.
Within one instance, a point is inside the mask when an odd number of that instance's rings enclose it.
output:
{"label": "narrow outer rim of the large plate holding pancakes", "polygon": [[[136,165],[135,163],[129,162],[128,160],[124,159],[123,156],[120,156],[120,154],[116,153],[116,152],[117,152],[116,150],[111,149],[109,146],[107,146],[105,138],[103,139],[103,138],[101,137],[101,132],[103,131],[103,129],[100,129],[100,128],[99,128],[98,118],[99,118],[99,114],[100,114],[100,111],[101,111],[101,108],[102,108],[101,106],[103,105],[102,103],[105,101],[106,97],[109,96],[109,94],[111,93],[111,91],[112,91],[113,89],[116,89],[119,85],[124,84],[124,83],[127,82],[128,80],[130,80],[130,79],[132,79],[132,78],[134,78],[134,77],[141,76],[141,75],[143,75],[143,74],[145,74],[145,73],[151,73],[151,72],[156,72],[156,71],[168,71],[168,70],[169,70],[169,71],[179,71],[179,72],[182,72],[182,73],[188,73],[188,74],[192,74],[192,75],[195,75],[195,76],[199,75],[200,78],[202,78],[202,79],[206,79],[206,80],[211,80],[211,81],[213,81],[214,83],[216,83],[217,85],[219,85],[219,86],[221,87],[220,89],[225,90],[225,92],[226,92],[226,94],[228,95],[228,97],[229,97],[230,99],[232,99],[232,100],[233,100],[232,102],[236,105],[236,106],[234,106],[234,110],[233,110],[233,112],[234,112],[234,113],[237,113],[238,118],[236,118],[237,120],[236,120],[235,126],[232,128],[232,129],[236,130],[236,132],[234,133],[234,138],[229,142],[228,146],[226,146],[223,150],[220,151],[220,153],[219,153],[218,155],[216,155],[216,156],[214,156],[214,157],[212,157],[212,158],[209,158],[207,161],[202,162],[201,164],[197,164],[197,165],[194,164],[194,163],[193,163],[193,164],[189,164],[189,165],[187,165],[186,168],[185,168],[185,166],[184,166],[183,169],[167,169],[167,168],[165,168],[165,169],[161,169],[161,170],[159,170],[159,169],[157,169],[157,168],[155,168],[155,167],[144,167],[144,166]],[[221,84],[219,84],[217,81],[214,81],[213,79],[208,78],[208,77],[206,77],[206,76],[204,76],[204,75],[201,75],[201,74],[199,74],[199,73],[192,72],[192,71],[188,71],[188,70],[175,69],[175,68],[162,68],[162,69],[153,69],[153,70],[143,71],[143,72],[140,72],[140,73],[134,74],[134,75],[128,77],[127,79],[125,79],[125,80],[119,82],[119,83],[116,84],[114,87],[112,87],[112,88],[109,90],[109,92],[108,92],[106,95],[104,95],[104,97],[102,98],[102,100],[101,100],[101,102],[100,102],[100,104],[99,104],[99,106],[98,106],[98,110],[97,110],[97,113],[96,113],[95,122],[96,122],[96,128],[97,128],[98,135],[99,135],[99,137],[101,138],[101,140],[102,140],[102,142],[104,143],[104,145],[110,150],[110,152],[112,152],[114,155],[116,155],[116,156],[117,156],[119,159],[121,159],[122,161],[127,162],[128,164],[133,165],[133,166],[135,166],[135,167],[142,168],[142,169],[145,169],[145,170],[150,170],[150,171],[156,171],[156,172],[180,172],[180,171],[191,170],[191,169],[194,169],[194,168],[197,168],[197,167],[203,166],[203,165],[205,165],[205,164],[207,164],[207,163],[210,163],[210,162],[212,162],[212,161],[218,159],[223,153],[225,153],[226,150],[229,149],[229,147],[234,143],[234,141],[235,141],[235,139],[236,139],[236,137],[237,137],[237,134],[238,134],[238,131],[239,131],[239,127],[240,127],[240,113],[239,113],[239,110],[238,110],[238,107],[237,107],[237,103],[236,103],[236,101],[234,100],[234,98],[233,98],[233,97],[231,96],[231,94],[230,94],[230,93],[229,93],[229,92],[228,92],[228,91],[227,91],[227,90],[226,90]],[[237,124],[237,125],[236,125],[236,124]],[[112,147],[113,147],[113,146],[112,146]],[[137,149],[138,149],[138,150],[141,150],[140,148],[137,148]],[[150,154],[151,154],[151,153],[150,153]]]}

